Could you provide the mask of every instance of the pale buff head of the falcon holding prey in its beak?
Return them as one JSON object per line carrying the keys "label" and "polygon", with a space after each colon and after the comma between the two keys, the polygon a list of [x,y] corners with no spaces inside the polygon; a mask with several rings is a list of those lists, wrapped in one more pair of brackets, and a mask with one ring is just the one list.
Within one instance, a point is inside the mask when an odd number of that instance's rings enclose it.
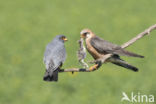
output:
{"label": "pale buff head of the falcon holding prey in its beak", "polygon": [[89,29],[83,29],[81,32],[81,38],[88,39],[94,36],[94,33]]}

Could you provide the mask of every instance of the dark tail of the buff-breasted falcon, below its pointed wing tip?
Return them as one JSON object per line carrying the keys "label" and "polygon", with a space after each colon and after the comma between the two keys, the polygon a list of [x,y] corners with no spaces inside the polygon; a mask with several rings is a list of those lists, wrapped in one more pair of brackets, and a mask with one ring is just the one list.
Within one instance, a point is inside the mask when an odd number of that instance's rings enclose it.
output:
{"label": "dark tail of the buff-breasted falcon, below its pointed wing tip", "polygon": [[113,61],[112,63],[115,65],[130,69],[130,70],[135,71],[135,72],[137,72],[139,70],[135,66],[132,66],[132,65],[126,63],[125,61],[121,60],[121,59],[117,59],[117,60]]}

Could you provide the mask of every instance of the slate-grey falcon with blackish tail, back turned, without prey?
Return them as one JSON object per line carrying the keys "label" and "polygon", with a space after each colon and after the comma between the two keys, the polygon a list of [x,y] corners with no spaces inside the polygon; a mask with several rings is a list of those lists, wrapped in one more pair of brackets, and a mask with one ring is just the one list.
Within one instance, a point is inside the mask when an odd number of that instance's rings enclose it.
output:
{"label": "slate-grey falcon with blackish tail, back turned, without prey", "polygon": [[58,71],[66,59],[65,41],[67,41],[67,38],[64,35],[57,35],[46,46],[43,59],[46,66],[44,81],[58,80]]}

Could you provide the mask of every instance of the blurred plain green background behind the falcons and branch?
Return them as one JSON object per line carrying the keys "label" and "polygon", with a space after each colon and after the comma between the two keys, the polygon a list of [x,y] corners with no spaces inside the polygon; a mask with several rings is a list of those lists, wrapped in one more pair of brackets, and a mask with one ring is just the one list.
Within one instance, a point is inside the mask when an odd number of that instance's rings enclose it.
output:
{"label": "blurred plain green background behind the falcons and branch", "polygon": [[127,48],[145,56],[123,57],[137,73],[105,64],[91,73],[60,73],[57,83],[42,80],[45,46],[56,35],[69,40],[63,67],[80,67],[83,28],[120,45],[155,24],[155,11],[156,0],[0,0],[0,104],[127,104],[123,91],[156,96],[156,31]]}

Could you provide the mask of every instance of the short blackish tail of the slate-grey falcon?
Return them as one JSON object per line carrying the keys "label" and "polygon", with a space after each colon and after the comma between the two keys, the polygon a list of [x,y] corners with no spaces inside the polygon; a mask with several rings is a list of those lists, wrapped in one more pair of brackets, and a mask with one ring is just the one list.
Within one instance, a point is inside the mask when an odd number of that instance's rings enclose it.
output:
{"label": "short blackish tail of the slate-grey falcon", "polygon": [[52,73],[49,73],[48,71],[46,71],[43,80],[44,81],[58,81],[58,69],[56,69]]}

